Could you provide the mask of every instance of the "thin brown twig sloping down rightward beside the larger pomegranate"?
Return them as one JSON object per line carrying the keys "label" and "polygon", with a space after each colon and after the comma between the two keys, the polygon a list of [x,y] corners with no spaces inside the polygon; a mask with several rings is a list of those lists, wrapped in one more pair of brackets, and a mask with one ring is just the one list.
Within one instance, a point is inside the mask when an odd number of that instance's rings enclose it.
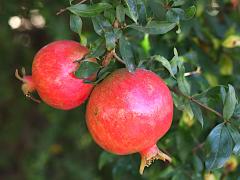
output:
{"label": "thin brown twig sloping down rightward beside the larger pomegranate", "polygon": [[179,91],[179,90],[176,89],[176,88],[175,88],[175,89],[172,89],[172,91],[175,92],[176,94],[181,95],[181,96],[187,98],[188,100],[194,102],[195,104],[199,105],[199,106],[202,107],[203,109],[206,109],[207,111],[210,111],[210,112],[214,113],[216,116],[218,116],[218,117],[220,117],[220,118],[222,118],[222,119],[224,120],[224,118],[223,118],[223,116],[222,116],[221,113],[219,113],[219,112],[217,112],[216,110],[208,107],[207,105],[201,103],[200,101],[194,99],[192,96],[188,96],[188,95],[186,95],[186,94],[183,94],[181,91]]}

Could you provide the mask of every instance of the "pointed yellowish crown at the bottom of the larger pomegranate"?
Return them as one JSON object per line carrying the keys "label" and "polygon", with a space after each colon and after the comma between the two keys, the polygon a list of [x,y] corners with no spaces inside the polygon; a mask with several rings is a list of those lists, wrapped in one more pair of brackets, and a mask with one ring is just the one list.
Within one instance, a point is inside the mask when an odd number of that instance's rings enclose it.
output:
{"label": "pointed yellowish crown at the bottom of the larger pomegranate", "polygon": [[142,175],[144,168],[149,167],[155,160],[162,160],[171,162],[172,159],[167,154],[160,151],[157,145],[153,145],[150,148],[147,148],[140,152],[141,154],[141,164],[139,168],[139,173]]}

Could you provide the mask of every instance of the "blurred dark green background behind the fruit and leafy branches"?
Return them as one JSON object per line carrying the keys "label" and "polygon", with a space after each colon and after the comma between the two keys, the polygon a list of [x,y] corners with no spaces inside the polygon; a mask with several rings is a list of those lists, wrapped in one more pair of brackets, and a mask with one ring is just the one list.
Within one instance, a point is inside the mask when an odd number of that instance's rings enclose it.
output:
{"label": "blurred dark green background behind the fruit and leafy branches", "polygon": [[[240,32],[239,8],[232,8],[228,0],[220,1],[222,12],[218,14],[218,8],[209,9],[209,2],[197,3],[196,18],[183,23],[181,35],[171,32],[164,37],[151,37],[151,47],[147,49],[150,48],[151,54],[168,58],[172,57],[173,46],[181,53],[189,52],[193,64],[201,65],[204,77],[190,78],[193,89],[197,81],[201,84],[196,87],[202,89],[231,83],[239,92],[239,48],[221,47],[228,34]],[[69,28],[69,13],[56,15],[68,5],[67,0],[0,1],[0,179],[191,179],[189,174],[199,162],[196,157],[188,159],[188,155],[205,140],[218,120],[206,122],[206,128],[200,131],[194,119],[175,112],[175,123],[160,147],[167,148],[177,163],[167,166],[156,162],[140,177],[138,155],[110,155],[93,142],[84,119],[86,104],[71,111],[60,111],[24,97],[21,83],[14,76],[15,69],[25,67],[30,74],[34,54],[51,41],[79,41]],[[158,11],[156,7],[152,5],[152,9]],[[92,32],[91,22],[84,19],[84,35],[91,39]],[[214,119],[212,115],[206,116],[205,121]],[[228,174],[230,179],[240,175],[239,160],[234,159],[237,165],[232,174]],[[199,166],[203,175],[201,163]],[[223,172],[224,169],[215,174],[221,177]],[[170,175],[172,173],[176,175]]]}

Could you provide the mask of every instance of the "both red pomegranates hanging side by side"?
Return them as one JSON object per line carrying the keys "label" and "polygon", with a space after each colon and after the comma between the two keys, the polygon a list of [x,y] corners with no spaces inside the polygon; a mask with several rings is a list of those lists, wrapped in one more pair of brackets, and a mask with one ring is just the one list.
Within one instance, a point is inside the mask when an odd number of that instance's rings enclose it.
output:
{"label": "both red pomegranates hanging side by side", "polygon": [[[73,63],[88,50],[73,41],[45,46],[34,58],[32,77],[23,77],[25,94],[37,90],[44,102],[71,109],[87,99],[93,86],[74,77]],[[90,95],[86,119],[94,140],[106,151],[141,154],[140,173],[155,159],[171,161],[156,142],[169,130],[173,116],[171,93],[155,73],[119,69],[98,84]]]}

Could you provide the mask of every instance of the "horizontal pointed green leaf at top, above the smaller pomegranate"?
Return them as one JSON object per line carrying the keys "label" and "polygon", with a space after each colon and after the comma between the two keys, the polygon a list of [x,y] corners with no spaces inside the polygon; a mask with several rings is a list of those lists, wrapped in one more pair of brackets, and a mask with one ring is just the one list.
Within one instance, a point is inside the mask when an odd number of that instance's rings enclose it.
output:
{"label": "horizontal pointed green leaf at top, above the smaller pomegranate", "polygon": [[108,3],[96,3],[93,5],[78,3],[68,7],[67,9],[71,11],[73,14],[82,17],[92,17],[111,7],[112,6]]}

